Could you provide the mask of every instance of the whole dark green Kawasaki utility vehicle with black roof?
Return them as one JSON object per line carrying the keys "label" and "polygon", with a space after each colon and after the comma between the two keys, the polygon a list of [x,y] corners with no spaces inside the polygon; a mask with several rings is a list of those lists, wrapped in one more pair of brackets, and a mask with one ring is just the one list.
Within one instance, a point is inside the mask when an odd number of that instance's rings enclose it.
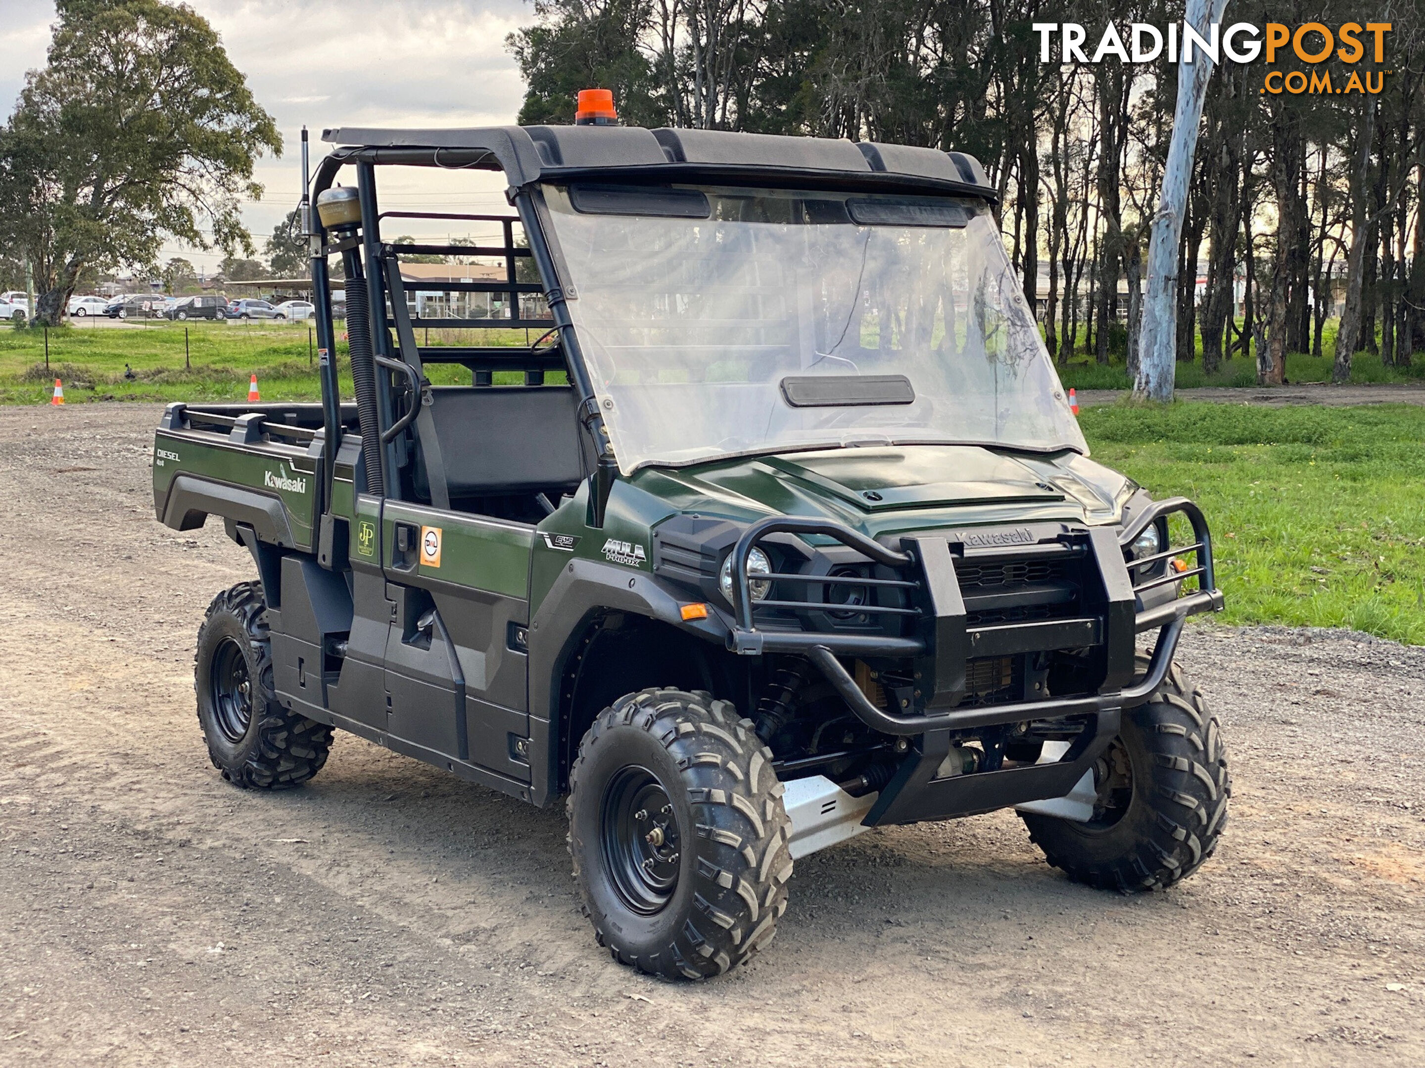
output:
{"label": "whole dark green Kawasaki utility vehicle with black roof", "polygon": [[[227,779],[296,786],[341,728],[566,796],[600,944],[667,977],[765,946],[794,862],[871,827],[1016,807],[1120,891],[1211,854],[1223,738],[1173,664],[1223,604],[1207,524],[1089,459],[973,158],[326,140],[322,403],[171,404],[154,446],[158,517],[221,517],[256,567],[198,634]],[[512,211],[383,211],[400,167],[500,171]],[[382,236],[466,224],[499,236]]]}

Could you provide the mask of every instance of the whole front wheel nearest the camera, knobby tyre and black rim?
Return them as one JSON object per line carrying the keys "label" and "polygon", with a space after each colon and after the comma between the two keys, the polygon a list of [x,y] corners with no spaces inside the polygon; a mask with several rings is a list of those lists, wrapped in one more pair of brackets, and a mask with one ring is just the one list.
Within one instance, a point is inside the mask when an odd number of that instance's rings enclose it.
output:
{"label": "whole front wheel nearest the camera, knobby tyre and black rim", "polygon": [[791,823],[771,750],[730,702],[630,693],[598,713],[569,779],[574,879],[614,960],[697,980],[771,941]]}

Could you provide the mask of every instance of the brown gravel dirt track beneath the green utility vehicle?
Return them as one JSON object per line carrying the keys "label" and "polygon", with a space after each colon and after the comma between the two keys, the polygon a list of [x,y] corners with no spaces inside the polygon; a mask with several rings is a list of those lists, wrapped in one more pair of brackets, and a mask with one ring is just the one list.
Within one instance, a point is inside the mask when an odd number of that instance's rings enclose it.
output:
{"label": "brown gravel dirt track beneath the green utility vehicle", "polygon": [[557,810],[352,736],[218,779],[192,637],[251,564],[154,521],[157,419],[0,409],[0,1065],[1425,1062],[1425,651],[1194,629],[1235,789],[1176,890],[1070,884],[1006,813],[872,832],[751,967],[660,984]]}

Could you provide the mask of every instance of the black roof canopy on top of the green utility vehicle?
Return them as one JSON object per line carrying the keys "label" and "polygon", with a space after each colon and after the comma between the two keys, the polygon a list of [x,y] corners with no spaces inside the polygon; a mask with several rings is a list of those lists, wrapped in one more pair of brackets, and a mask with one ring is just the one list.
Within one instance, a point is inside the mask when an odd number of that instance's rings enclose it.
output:
{"label": "black roof canopy on top of the green utility vehicle", "polygon": [[822,137],[643,127],[338,127],[322,140],[373,162],[504,171],[510,185],[560,179],[768,181],[970,194],[998,199],[975,157]]}

